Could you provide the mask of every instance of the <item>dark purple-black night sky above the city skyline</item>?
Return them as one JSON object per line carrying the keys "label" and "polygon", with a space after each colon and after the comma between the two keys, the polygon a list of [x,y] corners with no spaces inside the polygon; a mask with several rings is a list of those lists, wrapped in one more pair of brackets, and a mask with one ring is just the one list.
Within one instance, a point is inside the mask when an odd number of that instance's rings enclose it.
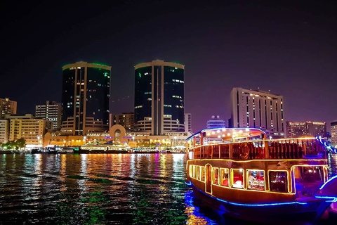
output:
{"label": "dark purple-black night sky above the city skyline", "polygon": [[285,121],[337,119],[336,1],[109,2],[1,1],[0,98],[34,114],[83,60],[112,66],[111,111],[131,112],[134,65],[159,59],[185,65],[193,131],[227,122],[235,86],[284,96]]}

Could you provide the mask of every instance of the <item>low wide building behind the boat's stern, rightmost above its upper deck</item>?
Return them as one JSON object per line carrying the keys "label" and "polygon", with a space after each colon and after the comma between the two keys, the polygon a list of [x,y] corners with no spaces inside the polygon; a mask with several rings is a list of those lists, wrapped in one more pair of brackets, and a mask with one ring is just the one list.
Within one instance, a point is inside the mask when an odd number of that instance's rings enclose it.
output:
{"label": "low wide building behind the boat's stern, rightmost above its upper deck", "polygon": [[326,136],[325,122],[286,122],[286,137],[298,138],[303,136]]}

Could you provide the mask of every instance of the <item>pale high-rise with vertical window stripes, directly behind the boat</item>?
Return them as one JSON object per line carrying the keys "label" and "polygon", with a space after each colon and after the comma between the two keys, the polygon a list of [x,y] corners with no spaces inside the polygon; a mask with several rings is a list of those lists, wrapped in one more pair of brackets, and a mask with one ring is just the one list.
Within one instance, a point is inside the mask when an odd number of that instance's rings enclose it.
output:
{"label": "pale high-rise with vertical window stripes, directly behind the boat", "polygon": [[256,127],[268,136],[284,137],[283,96],[235,87],[231,104],[230,127]]}

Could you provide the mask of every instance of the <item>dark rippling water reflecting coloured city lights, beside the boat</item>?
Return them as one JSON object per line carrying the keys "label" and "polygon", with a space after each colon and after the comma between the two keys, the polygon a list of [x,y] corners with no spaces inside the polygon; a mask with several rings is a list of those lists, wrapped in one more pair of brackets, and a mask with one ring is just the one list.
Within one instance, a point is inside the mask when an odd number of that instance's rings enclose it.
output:
{"label": "dark rippling water reflecting coloured city lights, beside the boat", "polygon": [[242,224],[185,186],[185,154],[0,154],[0,224]]}

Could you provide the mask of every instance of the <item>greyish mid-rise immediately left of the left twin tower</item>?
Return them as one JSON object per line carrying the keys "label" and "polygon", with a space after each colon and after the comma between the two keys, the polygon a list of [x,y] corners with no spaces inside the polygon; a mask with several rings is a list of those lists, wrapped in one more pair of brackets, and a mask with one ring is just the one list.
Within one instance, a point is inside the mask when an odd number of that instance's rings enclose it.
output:
{"label": "greyish mid-rise immediately left of the left twin tower", "polygon": [[51,129],[61,128],[62,105],[55,101],[46,101],[46,105],[35,106],[35,117],[51,121]]}

